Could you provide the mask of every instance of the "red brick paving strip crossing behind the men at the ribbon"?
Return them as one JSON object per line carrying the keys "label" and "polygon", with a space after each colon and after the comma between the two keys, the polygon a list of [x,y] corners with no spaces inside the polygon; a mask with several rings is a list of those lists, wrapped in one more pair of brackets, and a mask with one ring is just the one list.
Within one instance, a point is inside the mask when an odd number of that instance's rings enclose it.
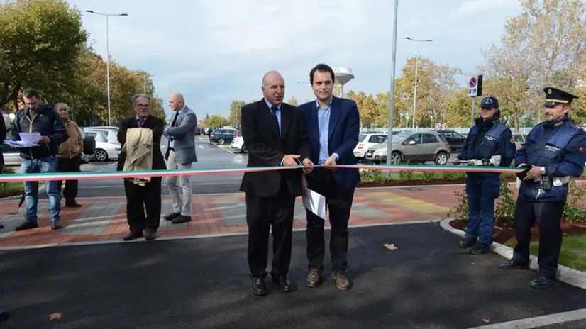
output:
{"label": "red brick paving strip crossing behind the men at the ribbon", "polygon": [[[516,187],[514,185],[512,185],[512,190],[514,190],[516,194]],[[463,186],[433,186],[424,188],[406,186],[405,188],[392,189],[358,189],[355,193],[354,204],[357,207],[360,207],[359,212],[364,215],[365,209],[370,211],[368,209],[371,208],[373,211],[377,211],[375,212],[377,215],[363,218],[356,212],[352,212],[350,215],[350,225],[430,221],[444,216],[437,212],[426,213],[425,211],[416,208],[416,204],[410,204],[411,208],[399,207],[399,205],[394,205],[387,201],[382,201],[369,196],[369,193],[372,192],[380,193],[385,191],[425,203],[451,208],[456,205],[454,191],[463,191]],[[164,196],[162,201],[165,201],[166,199],[168,199],[168,196]],[[241,208],[238,208],[236,215],[234,215],[238,216],[237,223],[233,222],[233,220],[228,223],[222,217],[221,208],[216,205],[216,200],[220,199],[238,199],[241,201]],[[0,201],[0,221],[5,226],[3,230],[0,230],[0,247],[26,247],[33,245],[67,244],[71,242],[121,241],[123,235],[128,232],[128,225],[126,223],[126,206],[123,205],[114,216],[109,217],[109,223],[105,228],[94,228],[94,231],[89,229],[91,232],[84,231],[67,234],[68,232],[75,230],[76,227],[79,227],[79,224],[90,223],[98,225],[100,221],[108,220],[105,216],[108,216],[109,208],[104,207],[104,213],[99,213],[99,211],[97,211],[97,213],[93,214],[95,217],[93,220],[86,219],[84,221],[76,222],[75,220],[81,218],[82,213],[84,213],[89,206],[92,206],[92,204],[96,202],[101,202],[103,204],[126,203],[126,199],[123,197],[79,199],[79,203],[83,204],[82,208],[62,208],[61,223],[64,229],[56,231],[50,230],[49,214],[48,211],[45,211],[44,213],[39,213],[39,228],[14,232],[13,226],[20,223],[24,213],[23,205],[18,212],[18,215],[8,215],[9,212],[16,209],[17,202],[18,201],[16,200]],[[40,203],[46,203],[46,200],[41,200]],[[194,195],[192,203],[192,221],[180,225],[172,225],[161,219],[161,225],[157,232],[157,236],[160,238],[174,238],[194,235],[246,233],[248,228],[245,225],[245,211],[243,211],[243,209],[245,209],[243,207],[244,203],[244,194]],[[301,203],[299,202],[298,206],[300,206],[300,204]],[[231,207],[228,206],[226,208]],[[380,213],[384,213],[388,216],[380,216]],[[165,213],[162,213],[162,215],[164,214]],[[297,220],[294,221],[293,227],[296,229],[304,229],[306,225],[305,222],[299,220],[300,217],[298,215],[296,218]],[[70,227],[72,224],[78,225]],[[329,223],[326,222],[326,226],[328,225]],[[68,227],[70,227],[69,230]]]}

